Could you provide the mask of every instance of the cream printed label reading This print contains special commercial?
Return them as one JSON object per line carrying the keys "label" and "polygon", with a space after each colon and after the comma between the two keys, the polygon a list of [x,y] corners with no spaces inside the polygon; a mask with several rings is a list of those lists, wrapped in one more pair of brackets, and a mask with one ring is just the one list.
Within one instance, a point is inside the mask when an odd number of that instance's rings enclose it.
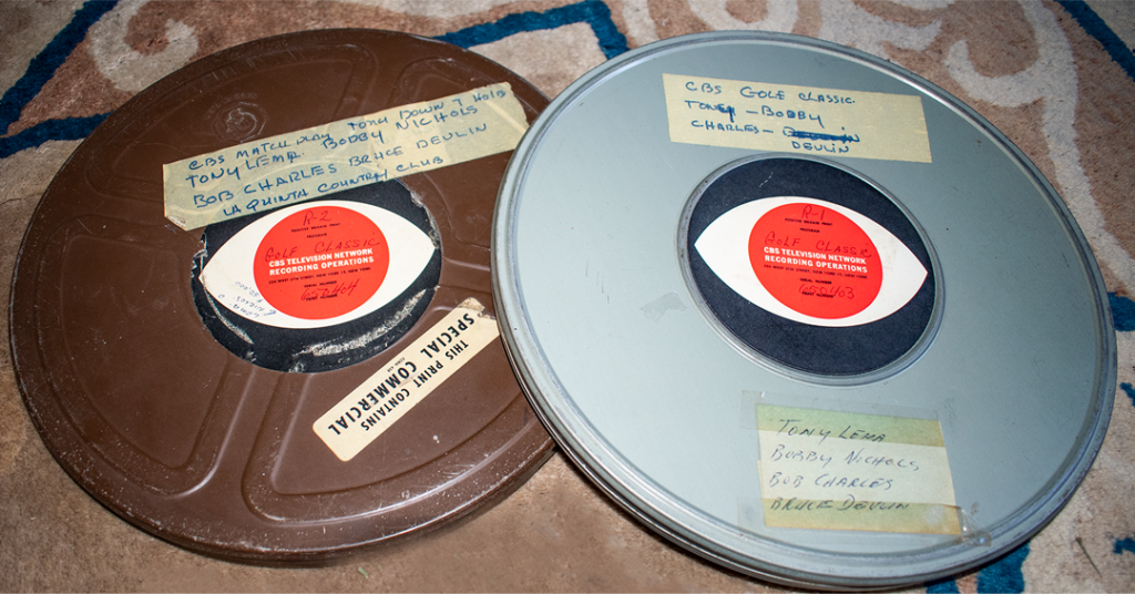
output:
{"label": "cream printed label reading This print contains special commercial", "polygon": [[346,462],[453,377],[499,336],[496,320],[466,299],[311,426]]}

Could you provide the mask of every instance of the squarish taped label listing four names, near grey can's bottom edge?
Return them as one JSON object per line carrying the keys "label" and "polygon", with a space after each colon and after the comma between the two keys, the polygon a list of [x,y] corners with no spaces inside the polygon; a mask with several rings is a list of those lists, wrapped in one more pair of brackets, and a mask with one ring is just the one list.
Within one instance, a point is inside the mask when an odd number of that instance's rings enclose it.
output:
{"label": "squarish taped label listing four names, near grey can's bottom edge", "polygon": [[766,526],[960,534],[936,420],[757,405]]}

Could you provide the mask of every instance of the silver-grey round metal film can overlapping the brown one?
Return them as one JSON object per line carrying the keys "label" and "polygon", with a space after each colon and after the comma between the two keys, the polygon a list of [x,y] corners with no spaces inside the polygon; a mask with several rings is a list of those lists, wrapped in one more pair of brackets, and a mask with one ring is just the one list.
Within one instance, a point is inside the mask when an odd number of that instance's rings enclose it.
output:
{"label": "silver-grey round metal film can overlapping the brown one", "polygon": [[1103,438],[1113,331],[1059,195],[881,59],[678,37],[518,148],[494,284],[537,413],[649,527],[800,587],[962,571],[1039,530]]}

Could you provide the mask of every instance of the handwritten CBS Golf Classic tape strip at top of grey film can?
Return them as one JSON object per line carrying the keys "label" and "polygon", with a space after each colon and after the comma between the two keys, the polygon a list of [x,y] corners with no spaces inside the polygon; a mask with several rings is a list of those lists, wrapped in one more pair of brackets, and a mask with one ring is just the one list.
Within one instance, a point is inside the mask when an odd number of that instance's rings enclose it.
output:
{"label": "handwritten CBS Golf Classic tape strip at top of grey film can", "polygon": [[662,76],[672,142],[931,162],[917,95]]}

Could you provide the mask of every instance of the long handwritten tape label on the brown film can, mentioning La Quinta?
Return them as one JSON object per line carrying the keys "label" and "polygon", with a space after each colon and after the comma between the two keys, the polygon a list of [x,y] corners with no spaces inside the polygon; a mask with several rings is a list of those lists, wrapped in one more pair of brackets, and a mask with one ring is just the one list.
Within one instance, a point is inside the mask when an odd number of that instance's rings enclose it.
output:
{"label": "long handwritten tape label on the brown film can, mentioning La Quinta", "polygon": [[183,229],[516,148],[528,119],[508,83],[258,139],[162,168]]}

